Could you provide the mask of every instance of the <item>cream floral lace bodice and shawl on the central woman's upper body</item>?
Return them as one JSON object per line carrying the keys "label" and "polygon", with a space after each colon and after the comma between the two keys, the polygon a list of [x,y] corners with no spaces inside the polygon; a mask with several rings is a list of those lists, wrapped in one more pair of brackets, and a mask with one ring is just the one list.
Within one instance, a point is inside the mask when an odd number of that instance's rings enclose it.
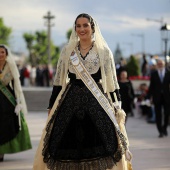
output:
{"label": "cream floral lace bodice and shawl on the central woman's upper body", "polygon": [[[71,66],[70,56],[67,54],[67,47],[64,47],[57,66],[56,75],[54,78],[54,85],[63,86],[65,88],[66,82],[69,81],[67,75],[68,71],[71,73],[75,73],[73,67]],[[76,47],[77,53],[80,54],[78,47]],[[86,69],[90,74],[95,74],[99,68],[102,73],[102,84],[105,92],[113,92],[116,89],[119,89],[119,85],[116,77],[115,63],[111,51],[107,48],[102,50],[102,53],[99,53],[99,49],[97,49],[96,44],[94,42],[94,46],[89,51],[89,54],[82,59],[80,56],[80,60],[85,65]],[[100,55],[99,55],[100,54]],[[78,75],[76,76],[79,79]]]}

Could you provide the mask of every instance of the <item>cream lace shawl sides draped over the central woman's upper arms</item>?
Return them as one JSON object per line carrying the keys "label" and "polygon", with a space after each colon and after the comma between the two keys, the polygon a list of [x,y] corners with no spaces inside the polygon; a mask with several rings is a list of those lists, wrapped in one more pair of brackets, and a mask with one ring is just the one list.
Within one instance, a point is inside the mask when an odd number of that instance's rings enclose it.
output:
{"label": "cream lace shawl sides draped over the central woman's upper arms", "polygon": [[[94,47],[97,49],[96,44],[94,43]],[[65,89],[66,84],[69,82],[68,79],[68,68],[69,68],[69,57],[71,52],[68,53],[67,46],[65,46],[61,52],[57,70],[54,78],[53,85],[62,86],[62,89]],[[116,89],[119,89],[119,85],[117,82],[115,63],[113,59],[113,55],[108,48],[104,48],[102,51],[97,49],[97,53],[100,59],[100,68],[101,68],[101,83],[105,93],[113,92]]]}

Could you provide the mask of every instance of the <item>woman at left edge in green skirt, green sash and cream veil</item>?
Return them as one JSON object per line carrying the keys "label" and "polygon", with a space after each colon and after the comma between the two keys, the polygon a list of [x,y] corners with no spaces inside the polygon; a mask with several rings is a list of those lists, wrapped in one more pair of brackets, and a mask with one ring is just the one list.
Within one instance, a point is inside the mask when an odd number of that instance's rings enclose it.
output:
{"label": "woman at left edge in green skirt, green sash and cream veil", "polygon": [[4,154],[31,149],[27,107],[19,71],[7,46],[0,45],[0,161]]}

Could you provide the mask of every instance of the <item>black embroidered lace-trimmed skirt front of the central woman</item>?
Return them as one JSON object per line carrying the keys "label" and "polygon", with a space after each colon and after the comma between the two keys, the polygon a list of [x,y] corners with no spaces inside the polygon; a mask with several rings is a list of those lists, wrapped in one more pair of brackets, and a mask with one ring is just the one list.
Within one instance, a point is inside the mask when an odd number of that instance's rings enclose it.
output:
{"label": "black embroidered lace-trimmed skirt front of the central woman", "polygon": [[64,164],[86,166],[82,162],[113,166],[121,151],[112,121],[83,83],[69,86],[46,128],[44,162],[54,170]]}

